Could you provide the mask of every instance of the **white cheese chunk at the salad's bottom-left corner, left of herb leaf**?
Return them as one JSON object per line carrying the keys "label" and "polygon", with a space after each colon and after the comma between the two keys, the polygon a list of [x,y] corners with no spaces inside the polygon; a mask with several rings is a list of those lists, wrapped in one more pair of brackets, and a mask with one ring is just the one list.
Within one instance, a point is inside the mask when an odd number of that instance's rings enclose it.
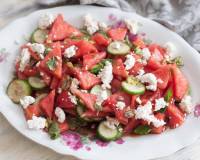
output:
{"label": "white cheese chunk at the salad's bottom-left corner, left of herb leaf", "polygon": [[33,116],[31,120],[27,121],[27,124],[30,129],[43,129],[46,126],[46,119],[43,117]]}

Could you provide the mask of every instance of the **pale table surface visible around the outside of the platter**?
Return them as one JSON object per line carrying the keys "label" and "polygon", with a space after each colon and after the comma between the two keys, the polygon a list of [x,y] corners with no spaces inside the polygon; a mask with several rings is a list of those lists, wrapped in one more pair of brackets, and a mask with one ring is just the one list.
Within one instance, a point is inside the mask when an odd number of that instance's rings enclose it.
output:
{"label": "pale table surface visible around the outside of the platter", "polygon": [[[34,0],[1,0],[0,28],[38,9]],[[18,12],[19,9],[24,8]],[[189,136],[189,135],[188,135]],[[170,143],[169,143],[170,145]],[[158,146],[159,147],[159,146]],[[63,156],[23,137],[0,114],[0,160],[77,160]],[[173,155],[156,160],[200,160],[200,140]]]}

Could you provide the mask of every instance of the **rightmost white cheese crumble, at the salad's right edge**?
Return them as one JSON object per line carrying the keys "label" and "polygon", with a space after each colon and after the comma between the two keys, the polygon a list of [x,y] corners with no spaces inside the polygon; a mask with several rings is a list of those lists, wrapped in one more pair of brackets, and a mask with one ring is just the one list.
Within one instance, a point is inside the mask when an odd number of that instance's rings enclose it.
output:
{"label": "rightmost white cheese crumble, at the salad's right edge", "polygon": [[191,113],[193,110],[192,97],[189,95],[184,96],[179,106],[186,113]]}

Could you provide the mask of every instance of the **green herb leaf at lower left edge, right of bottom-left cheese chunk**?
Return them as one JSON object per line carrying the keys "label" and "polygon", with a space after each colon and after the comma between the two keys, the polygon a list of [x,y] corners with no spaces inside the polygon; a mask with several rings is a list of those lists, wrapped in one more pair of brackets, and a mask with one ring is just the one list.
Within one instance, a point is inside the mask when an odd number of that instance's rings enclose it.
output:
{"label": "green herb leaf at lower left edge, right of bottom-left cheese chunk", "polygon": [[48,133],[50,135],[50,138],[53,140],[60,137],[60,129],[57,122],[53,121],[51,124],[49,124]]}

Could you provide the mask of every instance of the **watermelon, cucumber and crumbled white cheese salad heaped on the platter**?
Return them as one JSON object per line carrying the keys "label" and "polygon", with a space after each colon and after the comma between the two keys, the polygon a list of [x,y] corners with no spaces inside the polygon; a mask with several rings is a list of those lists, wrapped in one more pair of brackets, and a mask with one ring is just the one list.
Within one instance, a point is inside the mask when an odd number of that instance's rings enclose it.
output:
{"label": "watermelon, cucumber and crumbled white cheese salad heaped on the platter", "polygon": [[139,28],[88,14],[78,29],[61,14],[42,15],[7,88],[27,127],[51,139],[75,131],[114,141],[181,126],[193,109],[183,61],[173,43],[150,42]]}

